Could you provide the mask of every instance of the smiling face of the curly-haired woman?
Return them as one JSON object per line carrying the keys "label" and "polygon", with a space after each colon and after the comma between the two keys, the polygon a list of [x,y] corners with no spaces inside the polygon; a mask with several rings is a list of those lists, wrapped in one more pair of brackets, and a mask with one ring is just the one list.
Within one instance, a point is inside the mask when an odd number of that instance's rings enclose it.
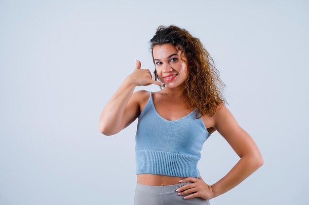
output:
{"label": "smiling face of the curly-haired woman", "polygon": [[[187,65],[180,59],[180,51],[177,47],[169,43],[155,45],[153,55],[155,70],[162,82],[168,88],[184,86],[183,83],[187,78]],[[185,59],[185,57],[182,58]],[[171,78],[168,79],[168,76]]]}

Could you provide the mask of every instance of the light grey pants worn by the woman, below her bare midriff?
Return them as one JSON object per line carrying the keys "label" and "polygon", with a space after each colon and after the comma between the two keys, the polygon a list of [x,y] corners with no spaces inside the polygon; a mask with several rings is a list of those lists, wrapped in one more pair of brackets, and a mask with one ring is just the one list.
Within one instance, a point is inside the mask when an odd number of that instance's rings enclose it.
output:
{"label": "light grey pants worn by the woman, below her bare midriff", "polygon": [[209,200],[201,197],[194,197],[191,199],[183,199],[185,195],[177,195],[176,189],[191,181],[167,185],[167,186],[151,186],[136,183],[134,205],[210,205]]}

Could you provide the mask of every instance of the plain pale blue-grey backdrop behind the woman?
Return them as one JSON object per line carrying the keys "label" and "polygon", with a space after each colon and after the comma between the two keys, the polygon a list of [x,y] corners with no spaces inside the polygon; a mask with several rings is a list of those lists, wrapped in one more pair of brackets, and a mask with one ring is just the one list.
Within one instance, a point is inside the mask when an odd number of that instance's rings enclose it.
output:
{"label": "plain pale blue-grey backdrop behind the woman", "polygon": [[[201,40],[264,165],[211,205],[305,205],[309,191],[309,3],[0,0],[0,205],[133,205],[137,119],[113,136],[101,112],[149,40],[174,24]],[[158,91],[156,85],[136,87]],[[208,184],[239,157],[218,133]]]}

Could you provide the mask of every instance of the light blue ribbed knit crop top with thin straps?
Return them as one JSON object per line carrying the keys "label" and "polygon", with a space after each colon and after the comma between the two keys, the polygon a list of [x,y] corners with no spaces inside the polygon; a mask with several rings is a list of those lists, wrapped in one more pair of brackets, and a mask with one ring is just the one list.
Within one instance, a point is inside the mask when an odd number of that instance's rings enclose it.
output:
{"label": "light blue ribbed knit crop top with thin straps", "polygon": [[202,118],[195,119],[195,112],[167,120],[156,112],[150,91],[135,135],[136,175],[199,177],[199,151],[211,134]]}

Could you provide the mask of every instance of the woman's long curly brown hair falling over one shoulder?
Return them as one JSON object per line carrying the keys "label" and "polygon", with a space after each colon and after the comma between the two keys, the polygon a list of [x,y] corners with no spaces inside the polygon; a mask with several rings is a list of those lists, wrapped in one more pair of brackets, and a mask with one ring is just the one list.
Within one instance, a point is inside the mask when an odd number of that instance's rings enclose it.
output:
{"label": "woman's long curly brown hair falling over one shoulder", "polygon": [[[181,51],[181,56],[183,55],[187,59],[187,61],[181,59],[186,63],[188,69],[184,91],[188,96],[186,103],[189,108],[192,110],[196,108],[198,111],[195,118],[206,114],[213,116],[218,106],[228,104],[222,95],[226,85],[219,78],[220,72],[215,68],[214,60],[198,38],[193,37],[188,30],[175,25],[159,26],[154,37],[150,40],[153,61],[154,46],[166,43],[176,46]],[[154,80],[157,79],[162,82],[154,68]],[[165,84],[160,86],[160,89],[162,87],[165,88]],[[200,114],[199,117],[198,114]]]}

